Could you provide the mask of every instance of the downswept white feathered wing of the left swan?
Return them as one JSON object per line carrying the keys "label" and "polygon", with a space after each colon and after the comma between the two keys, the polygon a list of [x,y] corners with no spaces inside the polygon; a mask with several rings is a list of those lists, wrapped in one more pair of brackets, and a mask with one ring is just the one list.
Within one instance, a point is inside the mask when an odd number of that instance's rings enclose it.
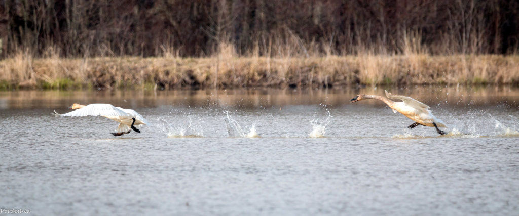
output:
{"label": "downswept white feathered wing of the left swan", "polygon": [[72,112],[59,114],[54,110],[54,116],[84,117],[84,116],[130,116],[124,110],[110,104],[89,104],[86,107],[76,109]]}

